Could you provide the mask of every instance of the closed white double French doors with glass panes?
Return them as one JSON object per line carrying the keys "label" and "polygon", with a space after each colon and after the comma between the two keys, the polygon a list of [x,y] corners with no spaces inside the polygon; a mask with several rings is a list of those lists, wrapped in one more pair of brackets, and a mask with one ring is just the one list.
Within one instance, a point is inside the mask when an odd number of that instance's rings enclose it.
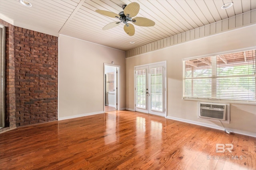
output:
{"label": "closed white double French doors with glass panes", "polygon": [[166,116],[166,63],[135,67],[135,111]]}

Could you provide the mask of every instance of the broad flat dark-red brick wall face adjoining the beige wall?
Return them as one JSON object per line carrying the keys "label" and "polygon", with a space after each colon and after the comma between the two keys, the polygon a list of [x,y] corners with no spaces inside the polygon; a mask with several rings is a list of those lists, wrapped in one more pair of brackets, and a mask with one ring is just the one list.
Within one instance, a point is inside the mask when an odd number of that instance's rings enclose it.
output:
{"label": "broad flat dark-red brick wall face adjoining the beige wall", "polygon": [[57,120],[58,37],[14,27],[16,126]]}

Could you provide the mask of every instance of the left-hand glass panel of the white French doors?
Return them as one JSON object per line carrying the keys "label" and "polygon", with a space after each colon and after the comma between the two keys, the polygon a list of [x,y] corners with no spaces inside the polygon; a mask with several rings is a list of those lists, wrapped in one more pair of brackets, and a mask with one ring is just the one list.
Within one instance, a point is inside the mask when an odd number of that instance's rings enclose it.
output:
{"label": "left-hand glass panel of the white French doors", "polygon": [[146,109],[146,69],[136,70],[136,107]]}

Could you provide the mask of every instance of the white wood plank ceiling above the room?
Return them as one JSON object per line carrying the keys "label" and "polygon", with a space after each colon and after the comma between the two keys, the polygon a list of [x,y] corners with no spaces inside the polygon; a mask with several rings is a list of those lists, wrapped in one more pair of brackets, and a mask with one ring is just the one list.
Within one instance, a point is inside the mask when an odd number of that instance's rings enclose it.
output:
{"label": "white wood plank ceiling above the room", "polygon": [[[27,0],[26,7],[18,0],[0,0],[0,14],[32,27],[83,39],[100,45],[128,51],[155,41],[183,33],[256,9],[256,0]],[[138,2],[137,16],[155,21],[153,27],[135,26],[135,35],[117,27],[102,30],[106,24],[119,21],[102,16],[95,10],[118,14],[123,4]],[[221,6],[233,2],[231,8]],[[15,24],[14,24],[15,25]],[[130,44],[134,41],[134,44]]]}

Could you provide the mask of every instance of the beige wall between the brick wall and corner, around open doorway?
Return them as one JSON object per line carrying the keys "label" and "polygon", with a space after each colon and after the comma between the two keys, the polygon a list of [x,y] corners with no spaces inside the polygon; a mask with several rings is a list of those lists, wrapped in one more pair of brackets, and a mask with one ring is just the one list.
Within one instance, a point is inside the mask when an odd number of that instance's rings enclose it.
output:
{"label": "beige wall between the brick wall and corner, around open doorway", "polygon": [[65,35],[59,38],[59,120],[104,110],[104,63],[120,65],[120,108],[125,108],[124,51]]}

